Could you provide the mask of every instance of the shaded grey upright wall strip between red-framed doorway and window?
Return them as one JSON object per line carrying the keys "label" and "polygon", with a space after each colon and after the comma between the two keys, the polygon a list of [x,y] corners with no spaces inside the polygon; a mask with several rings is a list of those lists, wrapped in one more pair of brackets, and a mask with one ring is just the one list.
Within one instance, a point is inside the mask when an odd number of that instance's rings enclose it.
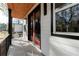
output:
{"label": "shaded grey upright wall strip between red-framed doorway and window", "polygon": [[43,5],[41,4],[41,51],[44,55],[49,55],[49,39],[51,35],[51,6],[47,4],[47,15],[44,16]]}

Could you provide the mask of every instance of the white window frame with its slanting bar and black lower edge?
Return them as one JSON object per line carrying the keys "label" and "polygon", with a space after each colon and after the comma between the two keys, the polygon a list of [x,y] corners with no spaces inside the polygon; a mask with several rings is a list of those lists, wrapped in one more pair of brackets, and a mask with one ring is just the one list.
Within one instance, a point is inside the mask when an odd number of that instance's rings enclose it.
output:
{"label": "white window frame with its slanting bar and black lower edge", "polygon": [[59,36],[59,37],[66,37],[66,38],[72,38],[72,39],[79,39],[79,33],[73,33],[73,32],[57,32],[56,31],[56,19],[55,19],[55,14],[57,12],[62,11],[62,10],[65,10],[65,9],[68,9],[70,7],[73,7],[73,6],[77,5],[77,4],[78,3],[73,3],[73,4],[69,4],[67,6],[64,6],[64,7],[60,8],[60,9],[55,9],[55,3],[53,3],[53,10],[51,10],[51,11],[53,11],[52,14],[51,14],[51,17],[52,17],[51,20],[53,20],[52,21],[53,27],[51,27],[51,28],[53,28],[53,31],[51,31],[52,32],[51,35],[53,35],[53,36]]}

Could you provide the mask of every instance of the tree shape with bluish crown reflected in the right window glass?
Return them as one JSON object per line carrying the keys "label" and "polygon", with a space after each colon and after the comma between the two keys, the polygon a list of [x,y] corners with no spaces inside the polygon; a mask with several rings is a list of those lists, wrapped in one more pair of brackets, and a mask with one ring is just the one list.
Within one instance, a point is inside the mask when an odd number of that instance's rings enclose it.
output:
{"label": "tree shape with bluish crown reflected in the right window glass", "polygon": [[74,13],[72,11],[72,7],[68,8],[66,10],[63,10],[63,11],[59,12],[59,14],[58,14],[58,16],[64,20],[64,23],[66,25],[66,32],[68,32],[69,23],[71,23],[73,14]]}

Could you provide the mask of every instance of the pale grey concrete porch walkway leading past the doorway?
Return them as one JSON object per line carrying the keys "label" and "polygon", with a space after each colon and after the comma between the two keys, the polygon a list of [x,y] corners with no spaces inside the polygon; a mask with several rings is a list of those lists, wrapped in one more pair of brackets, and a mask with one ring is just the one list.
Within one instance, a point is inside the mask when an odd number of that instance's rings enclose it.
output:
{"label": "pale grey concrete porch walkway leading past the doorway", "polygon": [[13,38],[8,56],[42,56],[41,52],[25,37]]}

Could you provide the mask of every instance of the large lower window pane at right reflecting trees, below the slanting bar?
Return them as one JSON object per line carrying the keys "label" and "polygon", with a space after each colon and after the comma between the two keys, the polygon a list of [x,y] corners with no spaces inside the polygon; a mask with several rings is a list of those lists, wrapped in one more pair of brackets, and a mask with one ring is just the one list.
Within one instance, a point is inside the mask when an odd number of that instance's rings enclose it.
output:
{"label": "large lower window pane at right reflecting trees, below the slanting bar", "polygon": [[56,13],[57,32],[79,32],[79,5]]}

